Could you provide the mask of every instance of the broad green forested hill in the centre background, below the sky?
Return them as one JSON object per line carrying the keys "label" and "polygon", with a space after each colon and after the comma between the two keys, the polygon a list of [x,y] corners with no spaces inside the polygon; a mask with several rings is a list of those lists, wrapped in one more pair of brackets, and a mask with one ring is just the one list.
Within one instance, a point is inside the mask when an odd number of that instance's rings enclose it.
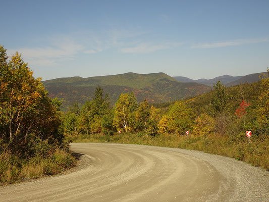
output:
{"label": "broad green forested hill in the centre background, below the sky", "polygon": [[84,104],[87,99],[92,98],[97,86],[101,86],[104,93],[109,94],[113,104],[123,92],[134,92],[138,102],[147,98],[150,103],[162,103],[196,96],[210,90],[205,85],[178,82],[165,73],[57,78],[43,81],[43,84],[50,97],[63,99],[64,108],[74,102]]}

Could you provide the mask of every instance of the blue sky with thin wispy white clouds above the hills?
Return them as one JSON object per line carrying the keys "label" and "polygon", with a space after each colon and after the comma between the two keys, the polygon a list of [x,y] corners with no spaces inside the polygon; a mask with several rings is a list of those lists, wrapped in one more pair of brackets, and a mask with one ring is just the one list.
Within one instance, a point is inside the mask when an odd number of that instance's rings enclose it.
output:
{"label": "blue sky with thin wispy white clouds above the hills", "polygon": [[2,1],[0,44],[43,80],[264,72],[269,1]]}

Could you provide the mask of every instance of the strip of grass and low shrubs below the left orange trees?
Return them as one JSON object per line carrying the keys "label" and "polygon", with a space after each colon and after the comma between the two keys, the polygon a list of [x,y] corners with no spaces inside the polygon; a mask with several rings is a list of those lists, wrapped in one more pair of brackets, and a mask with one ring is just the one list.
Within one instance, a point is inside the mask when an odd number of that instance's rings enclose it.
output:
{"label": "strip of grass and low shrubs below the left orange trees", "polygon": [[0,185],[58,174],[75,164],[76,159],[70,151],[59,148],[46,158],[36,156],[28,160],[20,159],[8,152],[2,153],[0,154]]}

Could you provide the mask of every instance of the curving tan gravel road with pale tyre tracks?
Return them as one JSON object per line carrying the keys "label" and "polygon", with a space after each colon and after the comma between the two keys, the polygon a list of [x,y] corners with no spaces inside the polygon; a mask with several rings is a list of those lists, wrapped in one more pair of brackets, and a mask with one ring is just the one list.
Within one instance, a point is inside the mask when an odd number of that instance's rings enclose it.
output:
{"label": "curving tan gravel road with pale tyre tracks", "polygon": [[0,187],[0,201],[269,201],[267,171],[199,151],[72,143],[75,172]]}

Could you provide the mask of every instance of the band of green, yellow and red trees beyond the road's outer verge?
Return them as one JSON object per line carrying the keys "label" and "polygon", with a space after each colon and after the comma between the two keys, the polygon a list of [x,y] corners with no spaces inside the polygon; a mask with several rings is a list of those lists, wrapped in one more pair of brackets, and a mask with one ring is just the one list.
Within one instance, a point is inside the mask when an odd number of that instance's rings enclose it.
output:
{"label": "band of green, yellow and red trees beyond the road's outer verge", "polygon": [[[117,131],[148,135],[173,133],[193,135],[214,133],[225,136],[251,130],[256,136],[267,135],[268,78],[251,84],[226,88],[220,81],[209,93],[176,102],[150,105],[146,99],[138,104],[134,93],[122,93],[115,106],[109,95],[97,87],[92,100],[80,109],[74,103],[64,115],[66,135]],[[155,107],[154,107],[155,106]]]}

